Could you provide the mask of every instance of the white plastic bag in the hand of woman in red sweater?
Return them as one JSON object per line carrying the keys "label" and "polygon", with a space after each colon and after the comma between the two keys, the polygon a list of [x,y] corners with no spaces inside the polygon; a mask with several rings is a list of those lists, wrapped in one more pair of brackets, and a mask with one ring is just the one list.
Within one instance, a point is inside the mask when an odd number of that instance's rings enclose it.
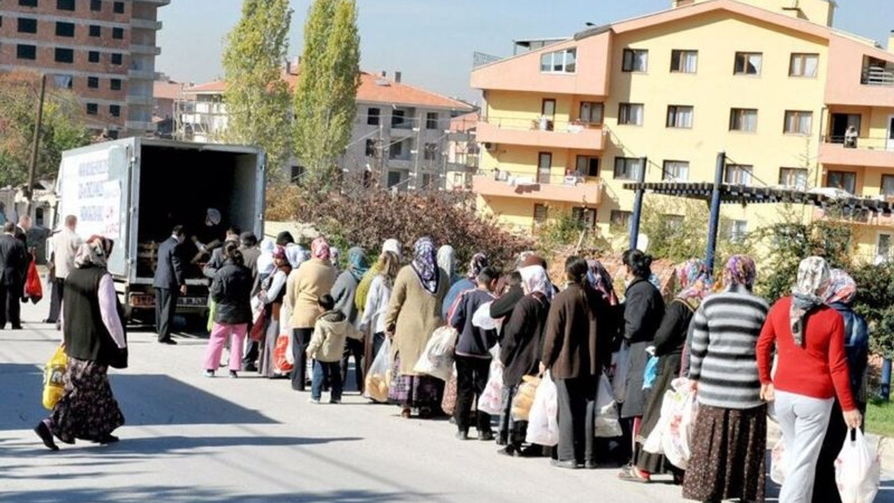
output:
{"label": "white plastic bag in the hand of woman in red sweater", "polygon": [[863,431],[848,431],[848,438],[835,461],[835,482],[842,503],[872,503],[879,492],[881,465]]}

